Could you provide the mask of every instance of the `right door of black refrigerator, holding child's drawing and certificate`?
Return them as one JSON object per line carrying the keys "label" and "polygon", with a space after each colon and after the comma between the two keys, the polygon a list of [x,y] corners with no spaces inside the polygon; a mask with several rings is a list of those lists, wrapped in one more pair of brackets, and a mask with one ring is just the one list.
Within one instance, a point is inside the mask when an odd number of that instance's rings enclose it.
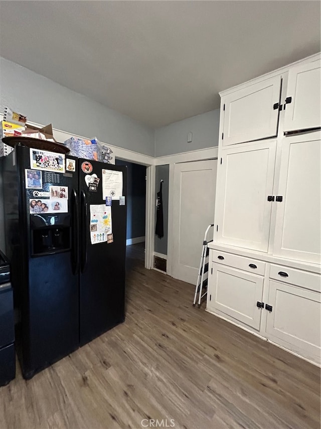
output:
{"label": "right door of black refrigerator, holding child's drawing and certificate", "polygon": [[[86,160],[80,159],[79,165],[83,162]],[[103,169],[122,172],[122,194],[126,196],[127,168],[96,161],[90,161],[90,164],[89,173],[85,173],[86,168],[79,168],[80,345],[86,344],[125,318],[126,206],[119,206],[119,200],[112,200],[113,242],[99,241],[93,244],[90,236],[90,206],[101,205],[107,211],[106,200],[102,199]],[[87,167],[85,164],[84,166]],[[99,181],[97,186],[90,189],[88,177],[92,175],[97,176]]]}

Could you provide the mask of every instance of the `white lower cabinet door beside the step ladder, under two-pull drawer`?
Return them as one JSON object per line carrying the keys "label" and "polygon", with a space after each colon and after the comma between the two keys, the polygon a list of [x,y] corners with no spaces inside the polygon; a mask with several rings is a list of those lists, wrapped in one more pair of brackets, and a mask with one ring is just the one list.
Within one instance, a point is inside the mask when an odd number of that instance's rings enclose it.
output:
{"label": "white lower cabinet door beside the step ladder, under two-pull drawer", "polygon": [[219,310],[235,320],[260,329],[263,277],[213,263],[208,309]]}

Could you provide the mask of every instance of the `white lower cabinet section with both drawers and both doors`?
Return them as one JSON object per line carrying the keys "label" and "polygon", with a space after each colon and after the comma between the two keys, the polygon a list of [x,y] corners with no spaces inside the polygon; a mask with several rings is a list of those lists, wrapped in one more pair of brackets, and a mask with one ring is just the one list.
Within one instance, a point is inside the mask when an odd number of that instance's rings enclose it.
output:
{"label": "white lower cabinet section with both drawers and both doors", "polygon": [[[208,311],[320,364],[320,274],[216,249],[210,260],[215,262],[210,263]],[[261,275],[238,268],[250,264]],[[266,266],[269,279],[263,277]]]}

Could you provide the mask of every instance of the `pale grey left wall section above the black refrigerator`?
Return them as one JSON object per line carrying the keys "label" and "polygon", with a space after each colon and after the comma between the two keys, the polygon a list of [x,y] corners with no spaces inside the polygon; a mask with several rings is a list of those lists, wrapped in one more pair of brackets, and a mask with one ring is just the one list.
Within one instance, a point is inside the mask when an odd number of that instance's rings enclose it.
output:
{"label": "pale grey left wall section above the black refrigerator", "polygon": [[1,112],[8,106],[26,114],[30,122],[52,123],[71,134],[96,136],[113,146],[154,156],[152,128],[5,58],[0,58],[0,70]]}

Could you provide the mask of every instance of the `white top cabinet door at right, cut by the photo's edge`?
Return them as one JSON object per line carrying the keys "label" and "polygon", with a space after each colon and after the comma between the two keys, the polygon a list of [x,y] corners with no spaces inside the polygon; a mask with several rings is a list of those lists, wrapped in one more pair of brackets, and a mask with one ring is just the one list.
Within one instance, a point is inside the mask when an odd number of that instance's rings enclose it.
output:
{"label": "white top cabinet door at right, cut by the photo's edge", "polygon": [[313,61],[289,70],[284,115],[285,132],[321,126],[320,67],[321,61]]}

